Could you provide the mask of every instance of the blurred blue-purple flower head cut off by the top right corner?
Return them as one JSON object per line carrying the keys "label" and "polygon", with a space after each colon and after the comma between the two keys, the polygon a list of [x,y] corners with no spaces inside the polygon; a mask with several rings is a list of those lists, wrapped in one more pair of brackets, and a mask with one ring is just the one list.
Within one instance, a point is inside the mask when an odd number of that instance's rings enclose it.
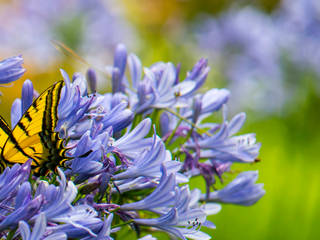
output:
{"label": "blurred blue-purple flower head cut off by the top right corner", "polygon": [[[318,14],[319,4],[316,0],[294,2],[283,0],[272,18],[281,33],[281,47],[289,55],[294,67],[300,70],[311,70],[320,76]],[[301,95],[300,91],[299,95]]]}

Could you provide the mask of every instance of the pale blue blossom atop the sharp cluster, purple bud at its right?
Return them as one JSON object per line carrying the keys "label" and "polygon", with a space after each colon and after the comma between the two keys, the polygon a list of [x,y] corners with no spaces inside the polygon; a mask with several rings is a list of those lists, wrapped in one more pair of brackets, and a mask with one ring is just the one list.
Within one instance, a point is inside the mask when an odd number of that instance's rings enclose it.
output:
{"label": "pale blue blossom atop the sharp cluster, purple bud at its right", "polygon": [[144,68],[137,56],[130,54],[128,66],[132,88],[126,88],[130,103],[136,113],[149,113],[153,108],[180,106],[204,83],[209,67],[207,61],[201,59],[187,73],[187,77],[179,82],[179,67],[172,63],[158,62],[150,68]]}

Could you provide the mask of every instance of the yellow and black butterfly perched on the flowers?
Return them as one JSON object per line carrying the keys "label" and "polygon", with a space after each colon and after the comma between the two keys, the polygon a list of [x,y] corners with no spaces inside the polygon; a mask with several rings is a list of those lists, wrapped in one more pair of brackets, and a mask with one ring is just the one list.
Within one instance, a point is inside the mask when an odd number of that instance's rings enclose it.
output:
{"label": "yellow and black butterfly perched on the flowers", "polygon": [[0,116],[0,172],[7,165],[32,159],[34,173],[45,175],[70,159],[64,140],[55,132],[62,87],[63,81],[59,81],[44,91],[12,131]]}

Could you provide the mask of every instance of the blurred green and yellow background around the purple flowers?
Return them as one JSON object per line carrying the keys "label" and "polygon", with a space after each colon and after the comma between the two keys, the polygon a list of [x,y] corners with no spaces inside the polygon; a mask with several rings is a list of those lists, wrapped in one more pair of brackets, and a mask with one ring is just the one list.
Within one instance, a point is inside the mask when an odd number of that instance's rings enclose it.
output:
{"label": "blurred green and yellow background around the purple flowers", "polygon": [[[9,1],[4,1],[10,4]],[[234,2],[231,0],[191,1],[191,0],[122,0],[112,1],[111,5],[122,9],[121,17],[134,28],[139,42],[129,46],[145,66],[155,61],[172,61],[182,64],[182,75],[191,69],[200,57],[207,57],[196,45],[192,30],[186,25],[192,23],[203,14],[216,17],[226,11]],[[279,1],[238,1],[237,6],[254,6],[269,14],[279,6]],[[117,8],[116,8],[117,9]],[[111,12],[115,11],[114,6]],[[115,11],[114,14],[118,14]],[[81,15],[80,15],[81,17]],[[62,21],[63,22],[63,21]],[[72,25],[72,22],[68,22]],[[63,38],[60,40],[79,53],[77,31],[72,26],[61,27]],[[70,26],[69,26],[70,27]],[[108,26],[106,26],[108,28]],[[1,29],[0,29],[1,31]],[[84,30],[85,31],[85,30]],[[250,31],[250,29],[248,29]],[[63,33],[66,33],[63,35]],[[66,40],[67,39],[67,40]],[[77,41],[75,41],[76,39]],[[58,39],[59,40],[59,39]],[[120,39],[121,40],[121,39]],[[122,39],[127,43],[128,39]],[[52,43],[50,43],[52,44]],[[49,45],[50,45],[49,44]],[[54,48],[53,45],[51,45]],[[112,45],[105,51],[105,58],[100,66],[89,66],[101,69],[101,66],[112,64]],[[97,46],[93,45],[92,48]],[[25,58],[26,74],[15,82],[13,87],[1,88],[1,115],[9,119],[10,106],[20,96],[23,81],[30,78],[35,88],[41,92],[54,81],[61,79],[59,68],[69,74],[74,71],[85,72],[87,64],[82,63],[72,54],[65,55],[57,51],[58,60],[38,69],[33,59]],[[0,57],[8,54],[19,54],[14,50],[0,51]],[[79,53],[82,57],[82,54]],[[34,54],[34,58],[37,55]],[[219,69],[209,62],[211,72],[206,88],[227,87],[228,79],[221,76]],[[105,73],[100,79],[110,81]],[[213,239],[318,239],[320,237],[320,97],[315,85],[320,80],[314,74],[300,74],[297,88],[303,89],[303,100],[292,101],[280,110],[264,114],[264,109],[251,110],[250,107],[237,109],[247,112],[247,122],[243,133],[255,132],[262,143],[259,159],[261,162],[246,167],[258,169],[258,182],[265,184],[266,195],[254,206],[242,207],[223,205],[219,214],[212,216],[216,230],[209,231]],[[291,84],[291,83],[290,83]],[[110,83],[100,84],[107,89]],[[277,86],[275,86],[276,88]],[[298,96],[297,96],[298,97]],[[232,98],[232,95],[231,95]],[[231,99],[237,101],[237,99]],[[243,168],[234,166],[234,169]],[[201,181],[201,180],[199,180]]]}

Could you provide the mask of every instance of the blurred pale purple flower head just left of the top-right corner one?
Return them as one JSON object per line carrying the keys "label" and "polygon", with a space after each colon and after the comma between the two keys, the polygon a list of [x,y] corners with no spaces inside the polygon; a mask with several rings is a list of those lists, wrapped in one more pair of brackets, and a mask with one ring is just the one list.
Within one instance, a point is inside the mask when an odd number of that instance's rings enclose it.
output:
{"label": "blurred pale purple flower head just left of the top-right corner one", "polygon": [[245,105],[270,111],[281,106],[279,33],[268,15],[249,7],[231,9],[203,21],[198,29],[199,46],[229,80],[236,99],[233,108]]}

